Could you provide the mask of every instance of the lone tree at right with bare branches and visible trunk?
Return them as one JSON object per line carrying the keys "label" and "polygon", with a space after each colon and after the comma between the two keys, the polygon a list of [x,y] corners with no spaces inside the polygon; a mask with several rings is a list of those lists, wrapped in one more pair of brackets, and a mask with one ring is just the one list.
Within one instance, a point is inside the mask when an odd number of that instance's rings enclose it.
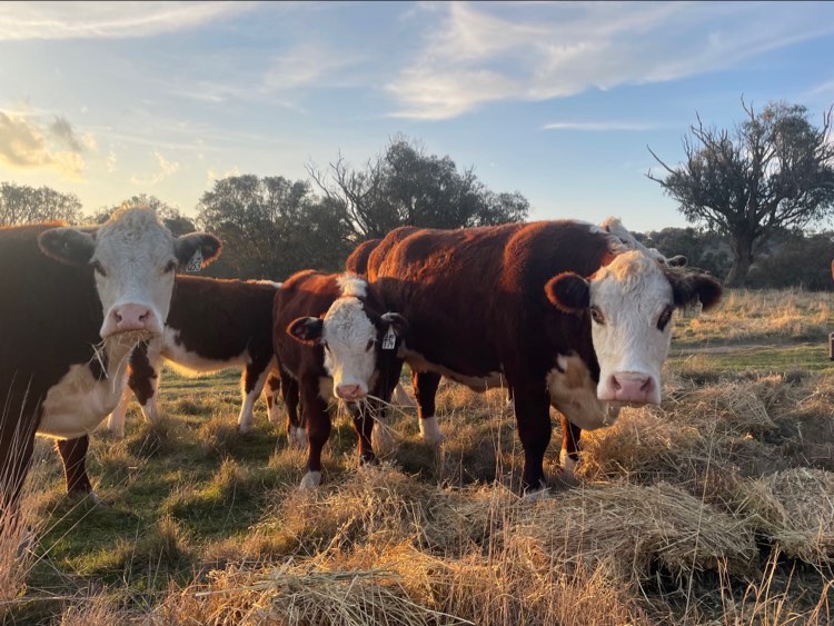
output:
{"label": "lone tree at right with bare branches and visible trunk", "polygon": [[778,229],[802,229],[834,208],[832,109],[822,128],[801,105],[768,102],[761,113],[742,99],[746,119],[731,133],[697,125],[684,138],[686,161],[665,178],[646,175],[677,200],[691,222],[728,237],[727,287],[743,286],[762,245]]}

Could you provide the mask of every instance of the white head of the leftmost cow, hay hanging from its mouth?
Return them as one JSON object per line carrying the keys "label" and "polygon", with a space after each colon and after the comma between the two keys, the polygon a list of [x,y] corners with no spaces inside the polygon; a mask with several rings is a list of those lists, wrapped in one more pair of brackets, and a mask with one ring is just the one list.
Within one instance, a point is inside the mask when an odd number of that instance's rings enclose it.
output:
{"label": "white head of the leftmost cow, hay hanging from its mouth", "polygon": [[146,208],[121,209],[99,228],[46,230],[39,244],[54,259],[92,267],[105,314],[102,339],[128,331],[161,334],[175,270],[200,256],[205,266],[221,248],[206,232],[173,237]]}

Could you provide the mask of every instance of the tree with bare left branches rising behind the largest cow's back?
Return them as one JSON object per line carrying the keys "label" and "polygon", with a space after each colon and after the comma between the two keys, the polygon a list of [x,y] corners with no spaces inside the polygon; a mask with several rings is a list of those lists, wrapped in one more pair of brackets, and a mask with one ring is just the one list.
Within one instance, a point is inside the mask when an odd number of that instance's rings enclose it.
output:
{"label": "tree with bare left branches rising behind the largest cow's back", "polygon": [[519,192],[494,193],[471,169],[458,172],[449,157],[427,156],[403,137],[385,153],[353,169],[341,155],[322,172],[308,163],[325,196],[344,206],[353,238],[384,237],[404,226],[458,228],[522,221],[529,202]]}

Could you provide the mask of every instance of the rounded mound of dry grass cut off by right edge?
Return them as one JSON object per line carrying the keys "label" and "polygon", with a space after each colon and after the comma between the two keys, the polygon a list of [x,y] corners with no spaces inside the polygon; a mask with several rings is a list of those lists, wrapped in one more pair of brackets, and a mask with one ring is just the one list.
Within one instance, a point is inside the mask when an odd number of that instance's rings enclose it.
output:
{"label": "rounded mound of dry grass cut off by right edge", "polygon": [[739,515],[786,556],[834,562],[834,473],[793,468],[739,483]]}

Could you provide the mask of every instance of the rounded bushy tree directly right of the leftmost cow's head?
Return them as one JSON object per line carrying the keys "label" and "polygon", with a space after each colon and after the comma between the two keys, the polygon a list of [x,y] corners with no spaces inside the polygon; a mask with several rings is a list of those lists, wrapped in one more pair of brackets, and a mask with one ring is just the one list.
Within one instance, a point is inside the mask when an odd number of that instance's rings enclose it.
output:
{"label": "rounded bushy tree directly right of the leftmost cow's head", "polygon": [[284,280],[305,268],[336,270],[349,252],[342,206],[320,201],[302,180],[216,180],[198,211],[198,223],[224,242],[215,275]]}

